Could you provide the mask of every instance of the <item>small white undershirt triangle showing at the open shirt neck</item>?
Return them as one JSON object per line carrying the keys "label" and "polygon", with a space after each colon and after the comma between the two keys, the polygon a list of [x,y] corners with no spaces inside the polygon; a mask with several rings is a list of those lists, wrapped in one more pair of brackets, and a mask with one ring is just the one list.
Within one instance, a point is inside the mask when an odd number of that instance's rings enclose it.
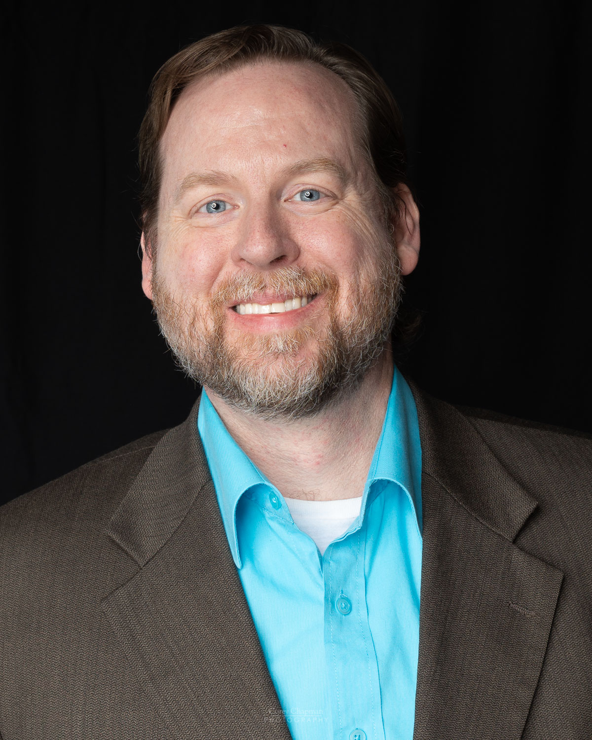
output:
{"label": "small white undershirt triangle showing at the open shirt neck", "polygon": [[361,496],[337,501],[307,501],[287,497],[284,500],[297,528],[314,540],[321,555],[336,537],[349,529],[362,506]]}

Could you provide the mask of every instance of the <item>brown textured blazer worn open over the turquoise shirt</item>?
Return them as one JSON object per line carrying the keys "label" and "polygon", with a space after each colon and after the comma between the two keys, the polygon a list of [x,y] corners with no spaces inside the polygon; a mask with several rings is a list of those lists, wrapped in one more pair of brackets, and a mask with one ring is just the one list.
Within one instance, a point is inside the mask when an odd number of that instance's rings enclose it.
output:
{"label": "brown textured blazer worn open over the turquoise shirt", "polygon": [[[589,740],[592,441],[412,390],[414,738]],[[3,740],[289,740],[198,403],[0,509]]]}

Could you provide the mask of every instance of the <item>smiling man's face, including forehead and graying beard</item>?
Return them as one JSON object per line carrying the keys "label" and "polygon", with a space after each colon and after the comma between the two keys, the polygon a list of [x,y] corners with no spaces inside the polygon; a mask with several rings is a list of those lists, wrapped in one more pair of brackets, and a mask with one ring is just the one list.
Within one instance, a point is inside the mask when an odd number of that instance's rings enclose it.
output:
{"label": "smiling man's face, including forehead and graying beard", "polygon": [[357,121],[336,75],[258,64],[186,89],[161,142],[144,291],[181,366],[266,419],[351,392],[388,342],[400,263]]}

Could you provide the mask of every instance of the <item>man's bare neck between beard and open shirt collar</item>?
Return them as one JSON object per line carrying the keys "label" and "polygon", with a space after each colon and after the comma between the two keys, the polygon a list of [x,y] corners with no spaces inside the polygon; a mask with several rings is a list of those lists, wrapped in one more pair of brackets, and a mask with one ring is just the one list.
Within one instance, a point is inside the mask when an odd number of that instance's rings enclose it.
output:
{"label": "man's bare neck between beard and open shirt collar", "polygon": [[351,396],[286,423],[260,420],[206,391],[236,443],[284,497],[331,501],[363,494],[393,371],[388,347]]}

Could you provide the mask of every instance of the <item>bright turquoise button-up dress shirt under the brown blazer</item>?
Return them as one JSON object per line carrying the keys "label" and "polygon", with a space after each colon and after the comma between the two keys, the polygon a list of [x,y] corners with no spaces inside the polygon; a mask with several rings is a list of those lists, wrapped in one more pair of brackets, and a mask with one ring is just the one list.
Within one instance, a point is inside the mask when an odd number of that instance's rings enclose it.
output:
{"label": "bright turquoise button-up dress shirt under the brown blazer", "polygon": [[323,556],[293,522],[281,492],[235,443],[205,391],[198,431],[292,737],[411,740],[420,626],[421,446],[417,410],[403,376],[394,369],[360,515]]}

